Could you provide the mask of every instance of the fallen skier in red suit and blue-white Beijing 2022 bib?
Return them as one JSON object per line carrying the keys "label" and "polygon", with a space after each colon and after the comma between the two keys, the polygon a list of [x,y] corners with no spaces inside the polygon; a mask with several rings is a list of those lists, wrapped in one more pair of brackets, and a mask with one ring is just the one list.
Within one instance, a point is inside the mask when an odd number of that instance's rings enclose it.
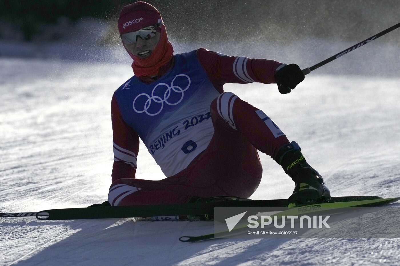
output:
{"label": "fallen skier in red suit and blue-white Beijing 2022 bib", "polygon": [[[112,206],[248,198],[262,177],[257,150],[295,183],[292,206],[330,200],[321,175],[262,110],[225,83],[277,83],[289,93],[304,79],[296,64],[226,56],[204,48],[173,54],[158,10],[146,2],[122,8],[122,44],[134,76],[112,96]],[[139,137],[166,179],[136,179]]]}

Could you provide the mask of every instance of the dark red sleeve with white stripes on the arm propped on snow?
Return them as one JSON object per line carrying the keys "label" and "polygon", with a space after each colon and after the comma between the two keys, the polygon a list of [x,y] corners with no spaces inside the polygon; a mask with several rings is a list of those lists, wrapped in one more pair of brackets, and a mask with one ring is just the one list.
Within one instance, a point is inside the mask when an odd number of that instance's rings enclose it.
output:
{"label": "dark red sleeve with white stripes on the arm propped on snow", "polygon": [[112,182],[121,178],[135,178],[136,157],[139,153],[139,135],[125,123],[114,95],[111,100],[111,121],[114,148]]}

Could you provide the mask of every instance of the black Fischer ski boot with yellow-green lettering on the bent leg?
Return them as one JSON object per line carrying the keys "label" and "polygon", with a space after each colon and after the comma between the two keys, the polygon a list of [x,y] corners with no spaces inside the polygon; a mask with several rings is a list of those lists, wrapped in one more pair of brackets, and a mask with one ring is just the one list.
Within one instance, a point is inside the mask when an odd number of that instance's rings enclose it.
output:
{"label": "black Fischer ski boot with yellow-green lettering on the bent leg", "polygon": [[274,160],[295,183],[294,191],[288,199],[288,207],[331,201],[324,179],[306,162],[295,141],[280,147]]}

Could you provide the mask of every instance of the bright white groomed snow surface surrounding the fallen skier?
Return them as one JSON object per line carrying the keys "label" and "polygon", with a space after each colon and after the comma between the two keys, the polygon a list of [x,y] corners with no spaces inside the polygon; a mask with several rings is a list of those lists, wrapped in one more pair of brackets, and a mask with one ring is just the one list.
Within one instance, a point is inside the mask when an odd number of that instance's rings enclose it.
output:
{"label": "bright white groomed snow surface surrounding the fallen skier", "polygon": [[[110,101],[129,66],[0,59],[2,212],[88,206],[107,198]],[[317,74],[318,71],[316,71]],[[262,109],[323,176],[333,196],[398,196],[400,79],[311,73],[288,95],[227,84]],[[288,197],[292,181],[267,155],[252,199]],[[138,177],[162,179],[142,144]],[[399,204],[394,204],[399,206]],[[0,218],[0,265],[398,265],[399,239],[214,239],[210,222],[133,218]]]}

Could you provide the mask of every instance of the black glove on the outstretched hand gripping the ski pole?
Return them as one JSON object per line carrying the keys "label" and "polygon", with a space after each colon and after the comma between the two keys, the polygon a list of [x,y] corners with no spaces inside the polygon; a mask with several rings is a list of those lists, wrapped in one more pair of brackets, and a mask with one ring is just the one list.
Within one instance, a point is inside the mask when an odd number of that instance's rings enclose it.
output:
{"label": "black glove on the outstretched hand gripping the ski pole", "polygon": [[290,64],[276,71],[275,80],[279,92],[286,94],[304,80],[304,74],[298,65]]}

